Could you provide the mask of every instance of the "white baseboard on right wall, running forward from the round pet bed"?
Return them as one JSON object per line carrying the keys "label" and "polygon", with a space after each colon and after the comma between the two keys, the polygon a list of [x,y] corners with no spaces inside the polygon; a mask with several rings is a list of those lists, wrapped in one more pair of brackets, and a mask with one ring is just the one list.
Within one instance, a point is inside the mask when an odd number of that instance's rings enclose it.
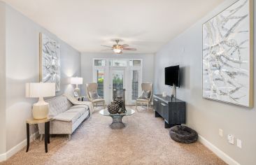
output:
{"label": "white baseboard on right wall, running forward from the round pet bed", "polygon": [[215,153],[215,155],[220,157],[220,159],[222,159],[227,164],[229,164],[229,165],[240,165],[239,162],[236,162],[234,159],[232,159],[232,157],[229,157],[229,155],[225,154],[225,152],[223,152],[222,150],[217,148],[215,145],[213,145],[212,143],[207,141],[206,138],[204,138],[203,136],[198,135],[198,141],[200,143],[202,143],[203,145],[205,145],[206,148],[208,148],[213,153]]}

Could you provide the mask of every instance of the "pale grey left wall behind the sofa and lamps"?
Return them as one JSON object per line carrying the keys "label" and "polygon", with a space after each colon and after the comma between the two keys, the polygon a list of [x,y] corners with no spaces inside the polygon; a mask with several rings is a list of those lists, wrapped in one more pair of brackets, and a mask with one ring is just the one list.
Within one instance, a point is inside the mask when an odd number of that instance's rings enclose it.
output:
{"label": "pale grey left wall behind the sofa and lamps", "polygon": [[80,76],[80,52],[6,5],[6,141],[10,150],[26,138],[25,120],[37,99],[25,97],[25,83],[39,81],[39,33],[61,45],[61,91],[72,92],[69,78]]}

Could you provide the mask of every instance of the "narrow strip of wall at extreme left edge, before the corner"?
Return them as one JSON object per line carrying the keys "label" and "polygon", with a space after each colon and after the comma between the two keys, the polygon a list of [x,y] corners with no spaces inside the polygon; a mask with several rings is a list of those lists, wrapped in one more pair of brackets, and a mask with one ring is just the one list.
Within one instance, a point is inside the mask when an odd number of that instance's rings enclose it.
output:
{"label": "narrow strip of wall at extreme left edge, before the corner", "polygon": [[0,1],[0,159],[6,152],[6,6]]}

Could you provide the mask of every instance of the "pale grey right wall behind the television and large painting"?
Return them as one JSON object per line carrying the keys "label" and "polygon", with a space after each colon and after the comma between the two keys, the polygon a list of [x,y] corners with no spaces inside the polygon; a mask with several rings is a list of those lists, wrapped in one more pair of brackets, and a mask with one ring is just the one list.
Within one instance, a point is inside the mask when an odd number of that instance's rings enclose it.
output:
{"label": "pale grey right wall behind the television and large painting", "polygon": [[[187,103],[187,125],[236,162],[249,165],[256,164],[255,108],[244,108],[202,98],[201,26],[234,1],[236,0],[225,1],[157,52],[155,55],[155,93],[166,91],[170,94],[170,88],[164,85],[164,67],[180,64],[182,82],[177,90],[177,96]],[[256,8],[256,3],[254,7]],[[254,73],[256,75],[256,71]],[[224,131],[222,138],[218,135],[219,128]],[[241,139],[242,149],[227,143],[227,134],[234,134],[235,138]]]}

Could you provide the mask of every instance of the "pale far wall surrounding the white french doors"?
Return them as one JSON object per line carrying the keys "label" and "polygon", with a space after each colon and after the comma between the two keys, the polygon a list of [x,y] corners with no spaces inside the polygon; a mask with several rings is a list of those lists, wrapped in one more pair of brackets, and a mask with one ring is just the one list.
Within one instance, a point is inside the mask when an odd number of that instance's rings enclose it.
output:
{"label": "pale far wall surrounding the white french doors", "polygon": [[122,55],[106,54],[106,53],[90,53],[83,52],[81,54],[81,75],[83,77],[83,85],[80,86],[82,96],[85,96],[85,84],[92,82],[92,61],[94,58],[106,59],[143,59],[142,82],[153,82],[154,72],[154,55],[152,54],[127,54]]}

